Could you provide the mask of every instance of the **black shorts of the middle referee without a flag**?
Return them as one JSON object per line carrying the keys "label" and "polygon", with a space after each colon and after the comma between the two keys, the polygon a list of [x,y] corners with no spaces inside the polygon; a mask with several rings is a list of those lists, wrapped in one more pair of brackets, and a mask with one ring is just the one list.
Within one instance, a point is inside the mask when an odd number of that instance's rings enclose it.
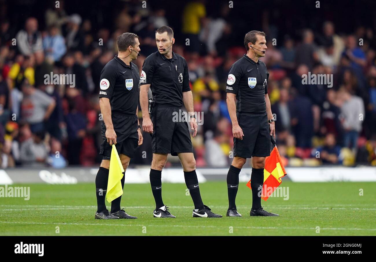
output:
{"label": "black shorts of the middle referee without a flag", "polygon": [[178,153],[193,153],[188,124],[182,113],[181,108],[158,105],[153,108],[153,153],[174,156]]}

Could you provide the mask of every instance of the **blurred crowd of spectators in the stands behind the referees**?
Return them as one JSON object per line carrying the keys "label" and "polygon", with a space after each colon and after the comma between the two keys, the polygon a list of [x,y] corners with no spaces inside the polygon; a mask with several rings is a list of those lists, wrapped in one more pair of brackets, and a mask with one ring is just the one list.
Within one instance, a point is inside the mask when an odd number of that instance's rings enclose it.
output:
{"label": "blurred crowd of spectators in the stands behind the referees", "polygon": [[[208,3],[187,2],[178,27],[163,8],[134,11],[124,5],[111,27],[94,28],[95,18],[67,14],[60,3],[44,12],[43,21],[30,16],[22,28],[6,19],[0,24],[1,168],[100,163],[100,72],[117,54],[115,39],[124,32],[139,36],[141,56],[134,62],[141,70],[157,51],[155,30],[163,25],[179,36],[173,51],[188,62],[194,108],[202,112],[193,139],[196,165],[228,167],[233,136],[226,80],[230,66],[246,53],[233,32],[260,29],[231,24],[228,4],[208,15]],[[320,30],[284,35],[277,44],[278,27],[265,20],[262,31],[268,49],[261,60],[270,72],[268,94],[285,165],[376,166],[375,30],[359,26],[342,34],[335,23],[323,21]],[[302,75],[309,73],[332,74],[332,87],[303,84]],[[60,81],[47,81],[46,74]],[[75,75],[74,87],[63,83],[66,74]],[[144,133],[131,163],[150,164],[150,141]]]}

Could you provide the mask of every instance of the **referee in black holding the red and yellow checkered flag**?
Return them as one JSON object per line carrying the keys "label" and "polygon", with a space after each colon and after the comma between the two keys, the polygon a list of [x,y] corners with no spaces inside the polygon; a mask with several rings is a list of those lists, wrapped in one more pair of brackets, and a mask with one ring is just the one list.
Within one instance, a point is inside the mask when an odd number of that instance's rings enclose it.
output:
{"label": "referee in black holding the red and yellow checkered flag", "polygon": [[231,66],[226,86],[227,107],[234,136],[234,158],[227,173],[229,209],[226,216],[241,217],[235,205],[239,173],[247,158],[251,157],[250,215],[278,216],[262,209],[259,194],[264,183],[265,157],[270,155],[270,136],[275,137],[268,96],[269,73],[265,63],[259,60],[265,56],[267,50],[265,33],[255,30],[248,32],[244,38],[244,45],[247,54]]}

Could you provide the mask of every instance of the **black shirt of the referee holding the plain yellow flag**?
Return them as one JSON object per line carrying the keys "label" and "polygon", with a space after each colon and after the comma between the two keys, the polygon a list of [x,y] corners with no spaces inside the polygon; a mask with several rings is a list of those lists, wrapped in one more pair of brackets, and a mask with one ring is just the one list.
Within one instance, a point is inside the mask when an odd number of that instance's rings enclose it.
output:
{"label": "black shirt of the referee holding the plain yellow flag", "polygon": [[126,65],[117,56],[100,73],[99,97],[110,99],[111,111],[136,114],[139,96],[138,67]]}

